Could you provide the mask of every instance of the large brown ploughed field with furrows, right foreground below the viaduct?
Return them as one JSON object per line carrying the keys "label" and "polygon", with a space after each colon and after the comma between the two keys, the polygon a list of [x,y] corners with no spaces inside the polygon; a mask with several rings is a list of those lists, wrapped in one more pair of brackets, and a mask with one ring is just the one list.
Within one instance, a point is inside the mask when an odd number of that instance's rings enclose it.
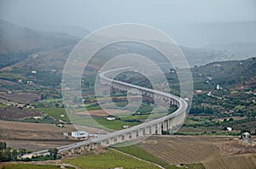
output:
{"label": "large brown ploughed field with furrows, right foreground below the viaduct", "polygon": [[[253,161],[256,161],[256,147],[250,149],[251,152],[236,155],[241,152],[241,149],[245,149],[241,145],[238,148],[240,151],[237,150],[237,142],[238,138],[236,137],[153,136],[144,140],[138,146],[170,165],[201,162],[206,168],[214,169],[255,168],[256,164]],[[227,146],[228,143],[232,144],[229,149],[234,149],[235,154],[227,155],[226,150],[221,148],[221,146]],[[239,157],[243,162],[236,161]]]}

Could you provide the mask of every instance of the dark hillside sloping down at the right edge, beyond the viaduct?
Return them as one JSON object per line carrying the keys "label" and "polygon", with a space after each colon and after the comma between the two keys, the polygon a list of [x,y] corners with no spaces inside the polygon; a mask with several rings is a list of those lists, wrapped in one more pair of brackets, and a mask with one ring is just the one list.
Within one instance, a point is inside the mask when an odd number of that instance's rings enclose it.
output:
{"label": "dark hillside sloping down at the right edge, beyond the viaduct", "polygon": [[[192,69],[194,82],[204,82],[204,87],[215,84],[232,86],[256,85],[256,58],[212,62]],[[206,85],[207,84],[207,85]],[[210,86],[208,86],[210,85]]]}

